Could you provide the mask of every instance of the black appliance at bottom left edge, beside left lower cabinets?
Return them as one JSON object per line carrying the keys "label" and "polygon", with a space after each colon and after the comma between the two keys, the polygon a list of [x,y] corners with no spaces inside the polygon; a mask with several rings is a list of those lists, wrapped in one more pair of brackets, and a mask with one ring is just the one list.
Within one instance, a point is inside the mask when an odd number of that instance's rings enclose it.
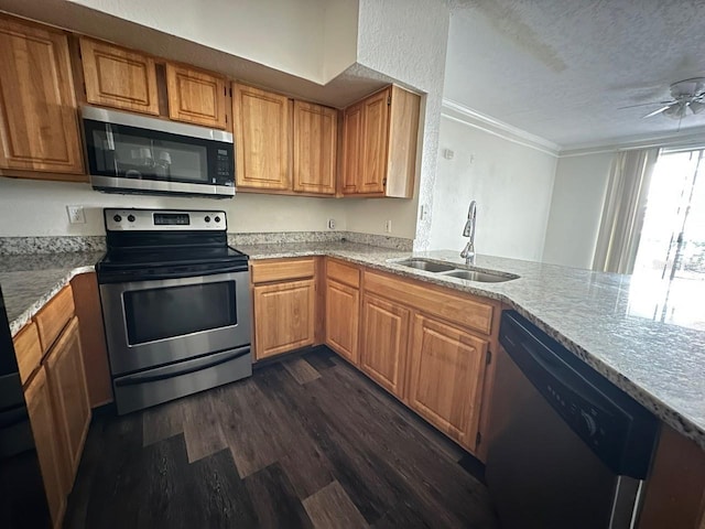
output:
{"label": "black appliance at bottom left edge, beside left lower cabinets", "polygon": [[44,483],[1,290],[0,527],[51,527]]}

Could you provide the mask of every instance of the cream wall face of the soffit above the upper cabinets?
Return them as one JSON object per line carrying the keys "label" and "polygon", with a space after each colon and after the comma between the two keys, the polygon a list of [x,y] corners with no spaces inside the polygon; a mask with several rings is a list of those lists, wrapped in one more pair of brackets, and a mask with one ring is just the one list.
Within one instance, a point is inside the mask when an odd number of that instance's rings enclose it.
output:
{"label": "cream wall face of the soffit above the upper cabinets", "polygon": [[321,84],[355,63],[356,0],[69,1]]}

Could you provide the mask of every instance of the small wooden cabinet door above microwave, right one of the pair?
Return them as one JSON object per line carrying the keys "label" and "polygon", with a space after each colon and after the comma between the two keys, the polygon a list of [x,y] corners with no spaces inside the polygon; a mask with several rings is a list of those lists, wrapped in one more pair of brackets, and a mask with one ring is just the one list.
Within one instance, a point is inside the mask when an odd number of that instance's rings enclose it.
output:
{"label": "small wooden cabinet door above microwave, right one of the pair", "polygon": [[167,63],[166,89],[171,119],[226,128],[225,78]]}

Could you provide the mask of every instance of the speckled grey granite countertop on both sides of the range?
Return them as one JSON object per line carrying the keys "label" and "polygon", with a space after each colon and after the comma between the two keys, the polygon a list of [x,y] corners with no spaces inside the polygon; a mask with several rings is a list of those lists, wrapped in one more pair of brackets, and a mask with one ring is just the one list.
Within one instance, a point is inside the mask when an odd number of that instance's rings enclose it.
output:
{"label": "speckled grey granite countertop on both sides of the range", "polygon": [[[251,259],[332,256],[510,305],[705,450],[705,309],[696,281],[661,281],[478,256],[519,279],[477,283],[400,264],[411,252],[352,242],[238,246]],[[416,252],[462,266],[457,251]],[[13,334],[99,252],[0,257]]]}

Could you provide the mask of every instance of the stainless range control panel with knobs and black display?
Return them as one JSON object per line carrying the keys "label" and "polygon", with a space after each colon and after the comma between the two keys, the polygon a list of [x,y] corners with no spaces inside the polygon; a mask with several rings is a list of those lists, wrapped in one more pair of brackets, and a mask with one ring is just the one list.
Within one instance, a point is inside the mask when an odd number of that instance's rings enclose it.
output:
{"label": "stainless range control panel with knobs and black display", "polygon": [[228,227],[223,210],[106,208],[102,213],[108,231],[225,231]]}

